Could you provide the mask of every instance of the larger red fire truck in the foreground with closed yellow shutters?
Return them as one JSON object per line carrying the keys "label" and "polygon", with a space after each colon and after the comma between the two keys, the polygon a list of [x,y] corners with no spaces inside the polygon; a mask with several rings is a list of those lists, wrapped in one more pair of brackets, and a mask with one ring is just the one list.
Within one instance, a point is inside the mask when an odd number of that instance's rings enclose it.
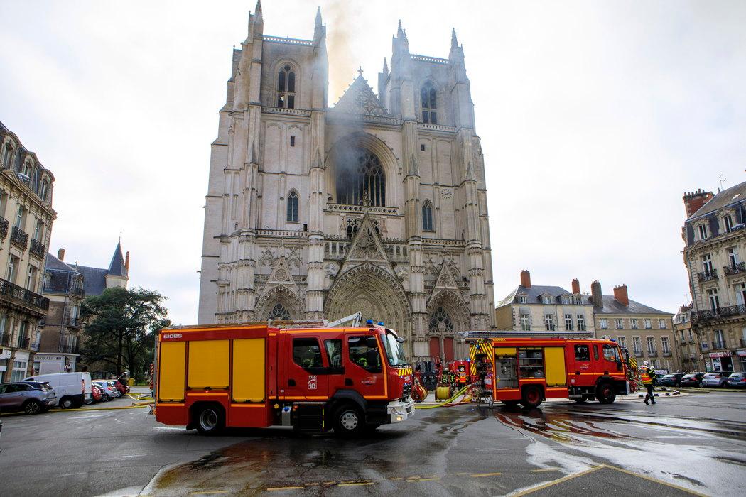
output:
{"label": "larger red fire truck in the foreground with closed yellow shutters", "polygon": [[187,326],[158,337],[156,420],[201,434],[293,426],[349,436],[414,414],[411,367],[383,326]]}

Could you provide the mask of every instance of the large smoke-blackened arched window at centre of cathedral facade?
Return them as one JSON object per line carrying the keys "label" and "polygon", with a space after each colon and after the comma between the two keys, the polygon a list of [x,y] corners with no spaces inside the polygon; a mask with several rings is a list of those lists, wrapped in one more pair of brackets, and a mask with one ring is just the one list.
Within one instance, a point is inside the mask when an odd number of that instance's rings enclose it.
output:
{"label": "large smoke-blackened arched window at centre of cathedral facade", "polygon": [[336,202],[361,206],[386,206],[386,174],[374,153],[363,148],[343,148],[335,157]]}

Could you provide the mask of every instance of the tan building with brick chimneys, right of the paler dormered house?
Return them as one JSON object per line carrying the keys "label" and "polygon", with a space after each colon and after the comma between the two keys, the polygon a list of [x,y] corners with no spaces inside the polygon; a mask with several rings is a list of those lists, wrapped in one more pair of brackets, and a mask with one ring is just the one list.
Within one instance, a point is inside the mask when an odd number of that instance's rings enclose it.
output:
{"label": "tan building with brick chimneys, right of the paler dormered house", "polygon": [[627,285],[601,294],[601,283],[591,284],[591,303],[597,338],[610,338],[630,351],[642,364],[657,370],[681,370],[680,349],[674,343],[674,314],[631,300]]}

